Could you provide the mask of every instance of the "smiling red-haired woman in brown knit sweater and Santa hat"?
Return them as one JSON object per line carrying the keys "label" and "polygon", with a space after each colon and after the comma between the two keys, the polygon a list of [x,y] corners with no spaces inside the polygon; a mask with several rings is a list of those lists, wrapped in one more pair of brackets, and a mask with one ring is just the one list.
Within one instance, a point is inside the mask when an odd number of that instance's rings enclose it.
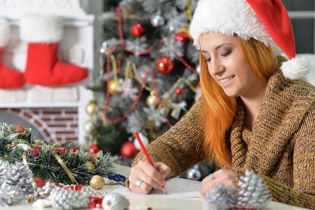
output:
{"label": "smiling red-haired woman in brown knit sweater and Santa hat", "polygon": [[[245,170],[261,174],[274,201],[315,208],[315,88],[295,57],[280,0],[200,0],[190,32],[200,50],[203,94],[189,112],[135,158],[128,187],[149,193],[194,164],[220,169],[202,180],[238,188]],[[287,55],[282,56],[281,50]]]}

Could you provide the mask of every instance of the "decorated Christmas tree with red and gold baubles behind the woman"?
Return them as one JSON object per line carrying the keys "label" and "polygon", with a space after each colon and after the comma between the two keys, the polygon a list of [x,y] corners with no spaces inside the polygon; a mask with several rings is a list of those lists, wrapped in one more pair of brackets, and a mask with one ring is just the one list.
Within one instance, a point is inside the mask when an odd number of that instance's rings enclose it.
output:
{"label": "decorated Christmas tree with red and gold baubles behind the woman", "polygon": [[100,71],[87,105],[90,146],[125,162],[187,113],[200,96],[199,51],[189,23],[197,0],[124,0],[100,17]]}

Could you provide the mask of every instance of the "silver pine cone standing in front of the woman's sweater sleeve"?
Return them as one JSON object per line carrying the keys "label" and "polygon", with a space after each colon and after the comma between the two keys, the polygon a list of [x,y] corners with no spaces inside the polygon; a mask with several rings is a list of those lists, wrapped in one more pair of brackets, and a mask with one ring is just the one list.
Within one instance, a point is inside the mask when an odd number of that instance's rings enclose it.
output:
{"label": "silver pine cone standing in front of the woman's sweater sleeve", "polygon": [[261,209],[271,201],[271,194],[267,184],[260,175],[246,170],[245,176],[239,180],[239,208]]}

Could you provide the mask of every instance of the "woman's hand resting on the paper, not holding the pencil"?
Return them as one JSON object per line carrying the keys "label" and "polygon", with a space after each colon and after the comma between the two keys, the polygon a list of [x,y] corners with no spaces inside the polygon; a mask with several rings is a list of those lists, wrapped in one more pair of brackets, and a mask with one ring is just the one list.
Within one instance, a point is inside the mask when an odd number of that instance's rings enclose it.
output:
{"label": "woman's hand resting on the paper, not holding the pencil", "polygon": [[[215,187],[218,183],[223,183],[225,187],[231,186],[233,189],[237,189],[236,173],[232,170],[220,169],[212,173],[214,179],[211,180],[210,176],[206,176],[202,180],[202,188],[199,190],[201,195],[206,195],[210,192],[211,188]],[[212,177],[212,178],[213,178]]]}

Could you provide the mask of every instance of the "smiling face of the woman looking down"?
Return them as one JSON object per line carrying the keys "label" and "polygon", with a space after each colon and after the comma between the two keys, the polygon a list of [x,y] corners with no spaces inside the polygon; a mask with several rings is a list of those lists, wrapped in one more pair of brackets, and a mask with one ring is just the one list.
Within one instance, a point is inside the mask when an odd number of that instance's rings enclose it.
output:
{"label": "smiling face of the woman looking down", "polygon": [[206,33],[199,42],[209,74],[227,96],[255,97],[262,79],[245,59],[237,37]]}

